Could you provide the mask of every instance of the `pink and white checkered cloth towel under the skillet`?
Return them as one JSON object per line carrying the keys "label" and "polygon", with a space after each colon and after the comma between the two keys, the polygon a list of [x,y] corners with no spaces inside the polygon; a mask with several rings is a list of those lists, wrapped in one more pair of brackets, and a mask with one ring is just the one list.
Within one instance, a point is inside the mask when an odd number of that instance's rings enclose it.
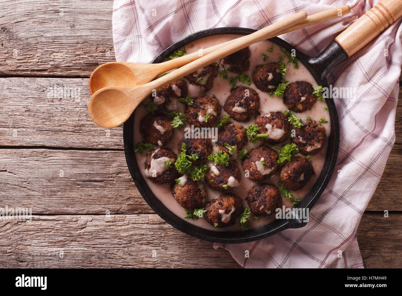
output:
{"label": "pink and white checkered cloth towel under the skillet", "polygon": [[[281,35],[316,56],[379,0],[115,0],[113,39],[117,61],[151,62],[187,35],[214,27],[260,29],[300,10],[313,14],[348,4],[351,13]],[[395,112],[402,60],[398,20],[349,60],[334,68],[328,83],[356,87],[352,99],[334,97],[340,121],[335,172],[310,211],[304,228],[244,244],[214,244],[244,267],[361,268],[359,221],[384,171],[395,141]],[[342,176],[336,173],[342,171]],[[249,250],[249,257],[245,257]],[[339,250],[342,257],[338,257]]]}

